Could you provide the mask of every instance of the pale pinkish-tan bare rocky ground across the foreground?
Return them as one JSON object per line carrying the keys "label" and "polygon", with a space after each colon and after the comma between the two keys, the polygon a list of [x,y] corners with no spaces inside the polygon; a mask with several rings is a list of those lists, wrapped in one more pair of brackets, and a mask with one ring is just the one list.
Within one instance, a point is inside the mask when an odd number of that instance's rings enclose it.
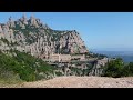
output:
{"label": "pale pinkish-tan bare rocky ground across the foreground", "polygon": [[24,82],[9,87],[17,88],[133,88],[133,77],[58,77],[51,80]]}

